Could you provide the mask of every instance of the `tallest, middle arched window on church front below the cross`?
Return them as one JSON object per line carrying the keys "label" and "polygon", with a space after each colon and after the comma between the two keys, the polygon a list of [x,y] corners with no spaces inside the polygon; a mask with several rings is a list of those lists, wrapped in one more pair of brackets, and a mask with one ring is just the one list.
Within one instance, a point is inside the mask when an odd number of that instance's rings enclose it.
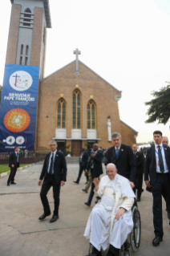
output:
{"label": "tallest, middle arched window on church front below the cross", "polygon": [[80,129],[81,124],[81,95],[79,90],[73,93],[73,120],[72,126],[74,129]]}

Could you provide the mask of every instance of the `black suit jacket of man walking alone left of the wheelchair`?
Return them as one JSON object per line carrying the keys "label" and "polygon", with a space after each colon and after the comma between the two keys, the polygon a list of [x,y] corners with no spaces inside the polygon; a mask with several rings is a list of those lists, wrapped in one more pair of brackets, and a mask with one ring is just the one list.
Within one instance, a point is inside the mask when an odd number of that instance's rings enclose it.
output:
{"label": "black suit jacket of man walking alone left of the wheelchair", "polygon": [[[43,167],[42,167],[42,173],[39,177],[39,180],[43,180],[47,177],[48,172],[48,165],[51,157],[51,152],[47,154]],[[55,173],[55,181],[57,184],[60,183],[60,181],[66,181],[67,180],[67,163],[65,156],[62,152],[57,151],[55,154],[55,163],[54,163],[54,173]]]}

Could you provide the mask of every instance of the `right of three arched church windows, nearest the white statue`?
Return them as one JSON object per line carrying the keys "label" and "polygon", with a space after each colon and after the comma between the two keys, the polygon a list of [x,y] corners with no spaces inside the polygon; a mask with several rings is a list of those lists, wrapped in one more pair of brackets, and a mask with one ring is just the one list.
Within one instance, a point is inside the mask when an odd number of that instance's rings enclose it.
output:
{"label": "right of three arched church windows, nearest the white statue", "polygon": [[87,104],[87,129],[96,129],[96,108],[93,100]]}

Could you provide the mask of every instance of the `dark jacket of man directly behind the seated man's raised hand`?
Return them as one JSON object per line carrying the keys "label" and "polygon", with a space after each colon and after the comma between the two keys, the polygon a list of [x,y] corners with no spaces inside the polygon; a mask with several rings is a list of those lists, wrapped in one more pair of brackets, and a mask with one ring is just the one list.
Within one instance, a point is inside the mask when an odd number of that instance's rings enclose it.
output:
{"label": "dark jacket of man directly behind the seated man's raised hand", "polygon": [[90,157],[90,160],[87,162],[87,170],[91,168],[91,161],[93,161],[93,169],[91,169],[91,175],[94,179],[99,177],[103,173],[102,161],[103,161],[103,152],[99,150],[94,157]]}

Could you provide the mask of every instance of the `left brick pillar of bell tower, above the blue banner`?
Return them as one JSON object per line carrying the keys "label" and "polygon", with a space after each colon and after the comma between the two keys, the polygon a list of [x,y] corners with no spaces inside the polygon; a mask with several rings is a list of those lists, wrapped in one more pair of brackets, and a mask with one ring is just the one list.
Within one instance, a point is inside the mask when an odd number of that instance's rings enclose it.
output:
{"label": "left brick pillar of bell tower, above the blue banner", "polygon": [[21,5],[14,3],[12,4],[10,16],[10,30],[8,35],[8,44],[6,51],[7,64],[16,64],[21,7]]}

